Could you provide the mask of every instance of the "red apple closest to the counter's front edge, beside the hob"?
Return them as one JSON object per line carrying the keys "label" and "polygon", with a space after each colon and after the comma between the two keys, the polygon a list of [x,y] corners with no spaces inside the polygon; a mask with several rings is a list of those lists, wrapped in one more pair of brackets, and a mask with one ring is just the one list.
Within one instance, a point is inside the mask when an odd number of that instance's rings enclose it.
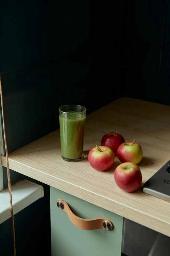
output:
{"label": "red apple closest to the counter's front edge, beside the hob", "polygon": [[118,165],[114,172],[114,178],[119,188],[126,192],[133,192],[142,183],[142,174],[135,163],[125,162]]}

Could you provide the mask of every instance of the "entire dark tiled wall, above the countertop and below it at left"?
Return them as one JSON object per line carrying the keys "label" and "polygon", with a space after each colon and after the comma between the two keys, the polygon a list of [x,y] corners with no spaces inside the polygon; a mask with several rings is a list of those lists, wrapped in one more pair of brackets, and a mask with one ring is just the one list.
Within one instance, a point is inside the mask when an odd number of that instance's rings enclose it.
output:
{"label": "entire dark tiled wall, above the countertop and below it at left", "polygon": [[[83,105],[87,113],[122,96],[169,104],[169,0],[7,0],[0,24],[8,152],[57,129],[64,104]],[[23,178],[11,176],[12,183]],[[18,256],[28,246],[37,255],[42,244],[50,255],[47,186],[45,194],[15,216]],[[12,255],[8,225],[0,225],[2,256]]]}

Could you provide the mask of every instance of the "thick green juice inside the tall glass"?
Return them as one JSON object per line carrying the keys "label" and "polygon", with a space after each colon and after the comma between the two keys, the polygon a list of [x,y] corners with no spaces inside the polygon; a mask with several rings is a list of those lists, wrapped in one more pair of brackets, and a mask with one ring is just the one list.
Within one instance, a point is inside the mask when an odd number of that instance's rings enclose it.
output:
{"label": "thick green juice inside the tall glass", "polygon": [[[70,114],[73,113],[71,116]],[[61,114],[60,120],[60,140],[62,157],[66,159],[78,159],[83,157],[83,141],[84,141],[84,114],[76,112],[69,113],[69,119],[63,118]]]}

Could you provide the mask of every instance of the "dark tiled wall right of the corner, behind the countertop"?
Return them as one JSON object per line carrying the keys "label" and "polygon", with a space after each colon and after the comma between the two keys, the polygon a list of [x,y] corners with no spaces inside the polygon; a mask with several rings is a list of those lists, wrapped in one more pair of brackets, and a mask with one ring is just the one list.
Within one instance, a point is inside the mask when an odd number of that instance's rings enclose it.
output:
{"label": "dark tiled wall right of the corner, behind the countertop", "polygon": [[169,105],[170,4],[169,0],[127,1],[124,28],[126,95]]}

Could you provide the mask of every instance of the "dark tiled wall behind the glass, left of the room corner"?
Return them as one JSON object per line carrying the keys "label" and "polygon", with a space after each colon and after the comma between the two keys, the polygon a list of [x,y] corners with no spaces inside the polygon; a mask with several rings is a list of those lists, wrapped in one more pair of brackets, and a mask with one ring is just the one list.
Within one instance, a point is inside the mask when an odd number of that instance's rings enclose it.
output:
{"label": "dark tiled wall behind the glass, left of the room corner", "polygon": [[[90,113],[125,95],[120,48],[121,3],[2,3],[0,72],[8,152],[58,128],[58,108]],[[102,14],[102,15],[101,15]],[[123,21],[121,21],[123,24]]]}

